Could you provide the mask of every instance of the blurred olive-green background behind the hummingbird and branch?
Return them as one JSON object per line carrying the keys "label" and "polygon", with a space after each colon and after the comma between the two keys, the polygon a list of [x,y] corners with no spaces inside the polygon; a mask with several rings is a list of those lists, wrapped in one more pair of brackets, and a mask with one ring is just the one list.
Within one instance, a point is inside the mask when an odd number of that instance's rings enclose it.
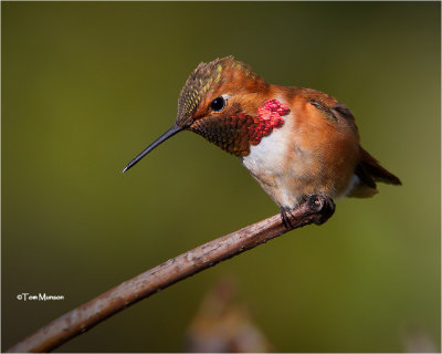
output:
{"label": "blurred olive-green background behind the hummingbird and branch", "polygon": [[[109,288],[278,210],[171,126],[187,76],[233,54],[327,92],[402,187],[123,311],[60,352],[179,352],[225,274],[281,352],[440,351],[440,2],[2,2],[2,350]],[[17,294],[63,294],[22,302]],[[417,334],[418,333],[418,334]],[[420,333],[420,334],[419,334]],[[412,345],[411,345],[412,346]]]}

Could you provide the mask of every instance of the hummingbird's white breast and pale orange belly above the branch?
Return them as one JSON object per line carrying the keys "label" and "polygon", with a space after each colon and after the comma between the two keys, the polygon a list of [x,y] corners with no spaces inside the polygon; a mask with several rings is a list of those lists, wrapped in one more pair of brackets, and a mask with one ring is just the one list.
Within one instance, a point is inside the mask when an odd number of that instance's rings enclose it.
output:
{"label": "hummingbird's white breast and pale orange belly above the branch", "polygon": [[263,137],[259,145],[251,146],[249,155],[241,157],[241,163],[267,195],[286,208],[297,207],[309,195],[345,196],[354,169],[344,171],[346,168],[338,159],[336,164],[324,164],[318,156],[296,148],[293,142],[287,142],[284,128],[290,128],[290,124]]}

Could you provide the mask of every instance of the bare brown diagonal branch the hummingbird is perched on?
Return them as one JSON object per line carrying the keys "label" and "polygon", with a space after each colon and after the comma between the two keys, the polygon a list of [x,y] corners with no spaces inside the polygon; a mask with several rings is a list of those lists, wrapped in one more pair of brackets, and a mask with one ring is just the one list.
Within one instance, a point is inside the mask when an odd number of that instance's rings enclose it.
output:
{"label": "bare brown diagonal branch the hummingbird is perched on", "polygon": [[[334,210],[332,199],[315,196],[292,210],[288,219],[294,229],[308,223],[320,225],[333,215]],[[197,247],[67,312],[8,352],[52,351],[137,301],[287,231],[281,222],[280,215],[275,215]]]}

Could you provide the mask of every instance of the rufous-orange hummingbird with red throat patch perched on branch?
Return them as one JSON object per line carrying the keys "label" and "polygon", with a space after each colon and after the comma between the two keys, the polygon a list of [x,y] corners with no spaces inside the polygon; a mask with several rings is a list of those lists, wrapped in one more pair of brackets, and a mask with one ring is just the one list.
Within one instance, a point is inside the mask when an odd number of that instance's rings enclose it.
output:
{"label": "rufous-orange hummingbird with red throat patch perched on branch", "polygon": [[145,148],[125,173],[159,144],[190,131],[236,156],[288,214],[314,196],[368,198],[376,183],[401,185],[359,143],[350,110],[323,92],[265,82],[233,56],[200,63],[178,100],[175,125]]}

